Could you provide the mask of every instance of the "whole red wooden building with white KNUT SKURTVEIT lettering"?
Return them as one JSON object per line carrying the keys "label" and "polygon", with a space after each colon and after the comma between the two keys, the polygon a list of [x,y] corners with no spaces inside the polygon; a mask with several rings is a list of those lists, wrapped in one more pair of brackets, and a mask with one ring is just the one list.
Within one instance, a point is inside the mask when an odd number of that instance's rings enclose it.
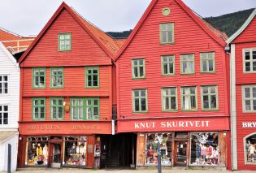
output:
{"label": "whole red wooden building with white KNUT SKURTVEIT lettering", "polygon": [[163,166],[228,167],[226,38],[180,0],[150,3],[115,60],[132,165],[156,166],[159,141]]}

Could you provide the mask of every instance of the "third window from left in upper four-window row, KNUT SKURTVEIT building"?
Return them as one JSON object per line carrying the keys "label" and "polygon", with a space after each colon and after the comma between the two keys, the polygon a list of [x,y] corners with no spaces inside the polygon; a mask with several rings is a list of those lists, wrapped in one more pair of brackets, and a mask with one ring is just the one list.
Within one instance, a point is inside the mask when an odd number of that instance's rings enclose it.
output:
{"label": "third window from left in upper four-window row, KNUT SKURTVEIT building", "polygon": [[181,58],[181,74],[195,73],[194,54],[182,54]]}

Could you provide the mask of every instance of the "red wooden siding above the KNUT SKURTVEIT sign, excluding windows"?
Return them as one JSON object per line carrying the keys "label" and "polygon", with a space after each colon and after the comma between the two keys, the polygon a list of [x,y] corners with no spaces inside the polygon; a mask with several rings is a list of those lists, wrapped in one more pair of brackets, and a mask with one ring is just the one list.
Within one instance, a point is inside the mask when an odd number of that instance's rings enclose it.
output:
{"label": "red wooden siding above the KNUT SKURTVEIT sign, excluding windows", "polygon": [[[162,15],[169,7],[171,14]],[[174,22],[175,43],[159,44],[159,24]],[[200,72],[200,52],[215,52],[215,73]],[[161,55],[176,56],[176,75],[161,75]],[[195,54],[195,74],[180,75],[180,54]],[[145,58],[145,80],[132,80],[132,58]],[[228,81],[223,46],[210,37],[175,1],[159,0],[127,49],[117,60],[118,115],[130,117],[167,117],[179,115],[228,115]],[[216,84],[219,110],[202,111],[200,85]],[[197,86],[198,111],[181,111],[180,86]],[[177,86],[178,111],[162,112],[161,88]],[[148,89],[148,113],[132,114],[132,89]]]}

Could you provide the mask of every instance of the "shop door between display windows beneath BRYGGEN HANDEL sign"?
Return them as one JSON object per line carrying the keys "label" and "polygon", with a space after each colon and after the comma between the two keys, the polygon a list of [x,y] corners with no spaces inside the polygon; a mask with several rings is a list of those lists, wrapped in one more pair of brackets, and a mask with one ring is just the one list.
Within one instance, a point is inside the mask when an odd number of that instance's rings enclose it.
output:
{"label": "shop door between display windows beneath BRYGGEN HANDEL sign", "polygon": [[50,143],[50,166],[60,167],[62,161],[61,143]]}

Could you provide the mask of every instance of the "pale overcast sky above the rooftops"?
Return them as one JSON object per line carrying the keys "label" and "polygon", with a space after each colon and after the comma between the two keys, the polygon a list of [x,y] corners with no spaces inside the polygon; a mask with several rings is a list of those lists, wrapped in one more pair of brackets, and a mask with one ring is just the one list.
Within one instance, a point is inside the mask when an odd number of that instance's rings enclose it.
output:
{"label": "pale overcast sky above the rooftops", "polygon": [[[22,36],[37,35],[63,0],[0,0],[0,27]],[[103,31],[134,28],[151,0],[65,0]],[[256,7],[256,0],[183,0],[203,17]]]}

